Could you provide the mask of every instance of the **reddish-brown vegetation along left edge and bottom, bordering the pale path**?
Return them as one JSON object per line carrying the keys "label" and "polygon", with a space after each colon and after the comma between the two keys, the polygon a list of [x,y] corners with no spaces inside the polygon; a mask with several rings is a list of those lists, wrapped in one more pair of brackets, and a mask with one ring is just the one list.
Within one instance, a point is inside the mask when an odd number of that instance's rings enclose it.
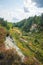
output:
{"label": "reddish-brown vegetation along left edge and bottom, bordering the pale path", "polygon": [[[21,61],[21,57],[17,54],[15,49],[6,50],[4,40],[6,37],[5,28],[0,28],[0,65],[39,65],[32,58],[24,58],[24,61]],[[3,51],[2,51],[3,50]],[[29,61],[29,62],[28,62]],[[35,61],[35,62],[34,62]],[[36,63],[36,64],[35,64]]]}

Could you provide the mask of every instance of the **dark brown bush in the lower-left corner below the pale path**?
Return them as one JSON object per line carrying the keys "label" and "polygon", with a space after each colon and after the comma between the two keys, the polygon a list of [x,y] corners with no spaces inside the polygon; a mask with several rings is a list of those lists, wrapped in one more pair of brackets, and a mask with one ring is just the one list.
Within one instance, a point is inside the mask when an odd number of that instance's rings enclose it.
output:
{"label": "dark brown bush in the lower-left corner below the pale path", "polygon": [[0,65],[19,65],[21,62],[17,53],[13,49],[9,49],[0,53]]}

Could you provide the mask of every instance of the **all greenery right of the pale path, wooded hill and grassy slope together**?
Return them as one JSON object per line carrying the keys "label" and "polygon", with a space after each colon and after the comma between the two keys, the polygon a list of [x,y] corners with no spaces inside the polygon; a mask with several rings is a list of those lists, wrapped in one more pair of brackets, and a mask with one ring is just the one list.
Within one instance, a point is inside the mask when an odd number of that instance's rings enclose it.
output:
{"label": "all greenery right of the pale path, wooded hill and grassy slope together", "polygon": [[10,33],[23,54],[35,57],[43,64],[43,14],[24,19],[13,26]]}

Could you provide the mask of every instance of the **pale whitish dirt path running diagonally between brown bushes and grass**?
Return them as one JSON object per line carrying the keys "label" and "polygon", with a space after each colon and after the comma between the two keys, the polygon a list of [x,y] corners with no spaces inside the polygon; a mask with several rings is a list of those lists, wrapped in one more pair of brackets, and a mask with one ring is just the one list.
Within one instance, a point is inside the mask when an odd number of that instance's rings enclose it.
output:
{"label": "pale whitish dirt path running diagonally between brown bushes and grass", "polygon": [[24,59],[25,56],[23,55],[21,50],[16,46],[15,42],[13,42],[13,40],[9,36],[6,37],[5,46],[6,46],[6,49],[11,49],[11,48],[16,49],[18,55],[22,58],[22,60]]}

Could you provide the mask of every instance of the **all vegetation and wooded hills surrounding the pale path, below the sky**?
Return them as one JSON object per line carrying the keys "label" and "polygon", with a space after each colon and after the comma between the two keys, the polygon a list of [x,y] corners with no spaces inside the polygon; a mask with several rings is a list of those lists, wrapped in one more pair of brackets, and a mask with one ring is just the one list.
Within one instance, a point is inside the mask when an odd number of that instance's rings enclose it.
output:
{"label": "all vegetation and wooded hills surrounding the pale path, below the sky", "polygon": [[[23,62],[15,49],[6,50],[8,33],[25,55]],[[13,24],[0,18],[0,65],[43,65],[43,14]]]}

